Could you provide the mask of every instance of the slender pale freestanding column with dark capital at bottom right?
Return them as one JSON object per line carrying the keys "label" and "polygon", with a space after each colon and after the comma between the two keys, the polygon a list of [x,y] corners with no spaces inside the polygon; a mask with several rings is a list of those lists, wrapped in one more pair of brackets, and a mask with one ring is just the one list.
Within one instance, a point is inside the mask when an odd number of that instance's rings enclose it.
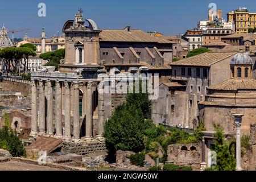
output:
{"label": "slender pale freestanding column with dark capital at bottom right", "polygon": [[232,116],[235,118],[235,124],[237,129],[236,170],[242,171],[243,169],[241,167],[241,125],[243,114],[232,114]]}

